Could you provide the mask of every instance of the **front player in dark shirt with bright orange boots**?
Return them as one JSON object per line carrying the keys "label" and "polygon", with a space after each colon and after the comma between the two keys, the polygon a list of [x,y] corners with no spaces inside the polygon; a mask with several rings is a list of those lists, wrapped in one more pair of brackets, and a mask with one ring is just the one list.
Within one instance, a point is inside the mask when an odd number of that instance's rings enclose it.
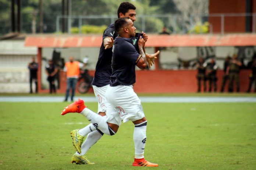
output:
{"label": "front player in dark shirt with bright orange boots", "polygon": [[[83,100],[79,99],[67,106],[61,115],[70,112],[78,112],[85,116],[96,129],[107,135],[114,135],[121,121],[132,121],[134,128],[135,159],[132,166],[158,166],[144,158],[146,143],[146,126],[141,101],[133,90],[135,84],[135,66],[145,69],[150,65],[155,56],[146,56],[143,50],[145,41],[140,37],[138,41],[139,53],[131,44],[131,37],[135,36],[136,28],[129,18],[119,18],[115,21],[115,30],[118,35],[115,39],[112,74],[110,86],[106,90],[107,119],[92,112],[85,107]],[[155,53],[157,55],[159,52]]]}

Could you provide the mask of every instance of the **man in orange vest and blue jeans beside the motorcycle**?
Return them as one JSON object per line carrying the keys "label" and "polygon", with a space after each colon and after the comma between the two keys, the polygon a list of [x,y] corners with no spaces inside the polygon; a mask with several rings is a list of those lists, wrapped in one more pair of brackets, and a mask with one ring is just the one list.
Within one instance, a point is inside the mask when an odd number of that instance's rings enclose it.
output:
{"label": "man in orange vest and blue jeans beside the motorcycle", "polygon": [[73,101],[75,95],[75,88],[77,85],[77,79],[79,76],[79,62],[74,61],[74,58],[70,56],[69,62],[65,63],[64,71],[67,73],[67,89],[65,94],[65,100],[68,101],[70,89],[72,88],[71,101]]}

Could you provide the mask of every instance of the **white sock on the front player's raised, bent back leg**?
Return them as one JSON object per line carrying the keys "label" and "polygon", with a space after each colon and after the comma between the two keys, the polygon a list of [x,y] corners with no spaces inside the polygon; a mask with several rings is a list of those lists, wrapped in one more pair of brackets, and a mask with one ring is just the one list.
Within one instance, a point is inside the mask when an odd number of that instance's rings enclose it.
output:
{"label": "white sock on the front player's raised, bent back leg", "polygon": [[113,130],[109,127],[109,125],[107,125],[106,116],[102,117],[96,114],[95,112],[91,111],[89,108],[83,109],[83,111],[81,111],[81,114],[85,116],[94,127],[101,130],[103,133],[107,135],[115,134]]}

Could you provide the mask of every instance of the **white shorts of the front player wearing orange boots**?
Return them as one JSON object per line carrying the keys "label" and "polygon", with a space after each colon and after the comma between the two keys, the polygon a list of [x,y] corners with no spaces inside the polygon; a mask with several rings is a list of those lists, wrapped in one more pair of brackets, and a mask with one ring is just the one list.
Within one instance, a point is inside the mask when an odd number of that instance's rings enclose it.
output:
{"label": "white shorts of the front player wearing orange boots", "polygon": [[[130,86],[115,86],[106,91],[107,122],[136,121],[145,117],[141,100]],[[115,121],[114,121],[115,119]]]}

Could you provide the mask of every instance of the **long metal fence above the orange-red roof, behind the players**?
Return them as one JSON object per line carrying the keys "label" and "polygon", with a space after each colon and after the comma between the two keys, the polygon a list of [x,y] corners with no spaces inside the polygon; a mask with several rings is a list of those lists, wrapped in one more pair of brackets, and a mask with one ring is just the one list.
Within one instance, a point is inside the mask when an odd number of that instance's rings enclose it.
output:
{"label": "long metal fence above the orange-red roof, behind the players", "polygon": [[[109,25],[114,23],[117,17],[115,15],[88,15],[88,16],[67,16],[67,15],[58,15],[56,19],[56,32],[60,33],[61,22],[63,19],[66,20],[67,24],[65,29],[68,33],[71,33],[71,27],[78,27],[79,33],[82,33],[81,27],[84,24],[88,25]],[[239,22],[239,19],[244,20],[244,23],[235,23]],[[244,25],[244,30],[238,30],[235,32],[256,32],[256,13],[247,14],[247,13],[230,13],[230,14],[209,14],[209,15],[198,15],[190,16],[185,18],[181,15],[137,15],[135,26],[138,30],[147,32],[147,33],[157,33],[160,32],[162,27],[166,27],[171,33],[174,34],[187,34],[187,33],[229,33],[234,32],[230,30],[225,30],[227,24],[230,21],[234,25]],[[97,21],[97,22],[96,22]],[[214,23],[211,21],[215,21]],[[227,22],[227,24],[226,24]],[[246,30],[246,25],[249,28]],[[204,29],[204,26],[207,28]],[[195,28],[199,28],[199,32]]]}

